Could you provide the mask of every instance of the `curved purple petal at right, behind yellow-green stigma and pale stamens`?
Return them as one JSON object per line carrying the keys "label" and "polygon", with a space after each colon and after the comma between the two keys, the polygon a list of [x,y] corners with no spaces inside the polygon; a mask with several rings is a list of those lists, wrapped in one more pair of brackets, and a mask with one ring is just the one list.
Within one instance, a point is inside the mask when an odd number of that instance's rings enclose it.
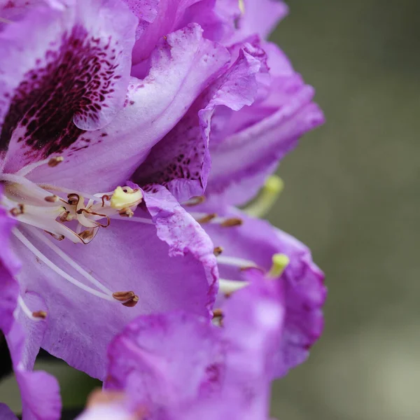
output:
{"label": "curved purple petal at right, behind yellow-green stigma and pale stamens", "polygon": [[[200,211],[209,213],[214,213],[214,210],[209,204],[200,208]],[[286,254],[290,260],[278,281],[279,287],[283,288],[286,306],[283,336],[274,361],[274,375],[281,377],[306,360],[310,347],[321,335],[322,307],[326,297],[323,273],[311,260],[311,253],[304,244],[266,221],[249,218],[236,210],[219,212],[219,216],[239,217],[243,221],[242,225],[230,228],[211,223],[203,225],[215,246],[223,248],[222,255],[251,260],[266,273],[274,254]],[[259,283],[266,276],[260,269],[241,271],[238,267],[223,264],[219,264],[219,270],[224,279]]]}

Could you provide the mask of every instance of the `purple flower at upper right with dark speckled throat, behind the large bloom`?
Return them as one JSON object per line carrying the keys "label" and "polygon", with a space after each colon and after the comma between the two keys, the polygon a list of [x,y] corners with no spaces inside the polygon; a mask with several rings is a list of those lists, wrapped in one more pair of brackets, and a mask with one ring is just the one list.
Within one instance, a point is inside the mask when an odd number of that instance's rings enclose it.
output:
{"label": "purple flower at upper right with dark speckled throat, behind the large bloom", "polygon": [[134,176],[139,185],[164,184],[179,200],[205,190],[219,204],[244,204],[302,134],[323,123],[322,111],[312,102],[314,89],[275,44],[263,39],[286,15],[284,3],[239,4],[218,1],[214,10],[236,22],[237,29],[219,40],[230,50],[231,73],[241,65],[240,78],[229,80],[226,73],[207,87],[139,167]]}

